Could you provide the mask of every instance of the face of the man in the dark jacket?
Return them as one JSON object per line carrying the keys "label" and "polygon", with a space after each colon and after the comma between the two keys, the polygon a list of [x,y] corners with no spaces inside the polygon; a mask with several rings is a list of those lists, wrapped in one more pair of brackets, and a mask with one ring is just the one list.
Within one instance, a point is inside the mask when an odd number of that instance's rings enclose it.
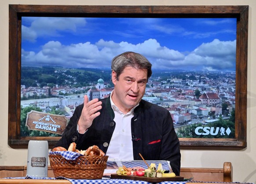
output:
{"label": "face of the man in the dark jacket", "polygon": [[112,100],[125,114],[139,103],[145,94],[147,70],[125,67],[119,80],[116,72],[112,71],[112,82],[115,85]]}

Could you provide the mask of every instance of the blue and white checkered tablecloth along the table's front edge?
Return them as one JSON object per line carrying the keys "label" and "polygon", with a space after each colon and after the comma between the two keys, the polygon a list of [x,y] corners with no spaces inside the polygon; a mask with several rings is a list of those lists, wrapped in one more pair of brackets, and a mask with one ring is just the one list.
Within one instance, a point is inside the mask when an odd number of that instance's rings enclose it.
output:
{"label": "blue and white checkered tablecloth along the table's front edge", "polygon": [[[140,180],[124,180],[124,179],[99,179],[99,180],[74,180],[65,177],[6,177],[7,179],[48,179],[48,180],[69,180],[72,184],[151,184],[147,181]],[[157,184],[185,184],[186,181],[168,181]]]}

